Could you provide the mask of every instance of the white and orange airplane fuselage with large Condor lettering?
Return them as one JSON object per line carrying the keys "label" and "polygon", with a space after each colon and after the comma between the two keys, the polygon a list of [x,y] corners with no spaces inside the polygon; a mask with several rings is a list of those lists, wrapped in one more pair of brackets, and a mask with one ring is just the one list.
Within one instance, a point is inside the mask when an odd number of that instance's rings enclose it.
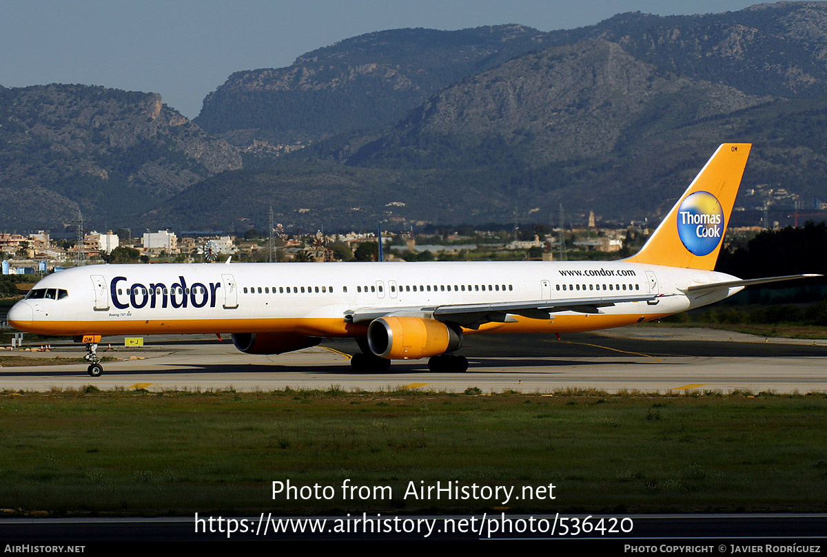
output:
{"label": "white and orange airplane fuselage with large Condor lettering", "polygon": [[[717,302],[742,287],[687,295],[691,285],[735,279],[698,269],[624,261],[334,264],[106,264],[51,274],[10,312],[45,335],[261,333],[364,336],[349,316],[365,308],[641,297],[550,319],[515,315],[466,333],[592,331]],[[60,292],[65,294],[61,294]]]}

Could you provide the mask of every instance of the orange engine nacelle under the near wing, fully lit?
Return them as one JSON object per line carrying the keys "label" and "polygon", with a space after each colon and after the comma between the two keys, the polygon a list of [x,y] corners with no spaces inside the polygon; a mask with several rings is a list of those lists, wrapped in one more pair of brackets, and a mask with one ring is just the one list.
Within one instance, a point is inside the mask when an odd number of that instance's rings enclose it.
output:
{"label": "orange engine nacelle under the near wing, fully lit", "polygon": [[436,319],[380,317],[370,322],[367,343],[380,358],[428,358],[457,350],[462,331]]}

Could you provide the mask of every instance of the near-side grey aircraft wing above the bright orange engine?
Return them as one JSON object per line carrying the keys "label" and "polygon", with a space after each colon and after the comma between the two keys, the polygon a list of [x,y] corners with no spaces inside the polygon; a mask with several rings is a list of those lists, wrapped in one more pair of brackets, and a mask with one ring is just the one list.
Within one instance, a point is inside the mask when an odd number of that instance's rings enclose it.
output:
{"label": "near-side grey aircraft wing above the bright orange engine", "polygon": [[638,294],[636,296],[557,298],[525,302],[445,304],[430,307],[366,307],[348,313],[345,318],[353,323],[364,323],[387,316],[425,317],[476,329],[491,321],[498,323],[516,321],[513,316],[553,319],[552,314],[559,312],[598,313],[600,307],[614,306],[620,302],[652,302],[659,296],[659,294]]}

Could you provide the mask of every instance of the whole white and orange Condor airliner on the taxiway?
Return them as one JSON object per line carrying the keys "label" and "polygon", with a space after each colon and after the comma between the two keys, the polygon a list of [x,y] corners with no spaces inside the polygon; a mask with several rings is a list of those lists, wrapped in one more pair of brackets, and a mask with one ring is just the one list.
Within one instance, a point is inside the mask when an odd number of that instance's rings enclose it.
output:
{"label": "whole white and orange Condor airliner on the taxiway", "polygon": [[338,264],[106,264],[50,274],[17,302],[18,331],[84,342],[101,336],[231,333],[246,354],[282,354],[353,337],[356,371],[430,358],[465,371],[465,335],[594,331],[717,302],[745,286],[716,273],[751,145],[720,145],[643,249],[619,261]]}

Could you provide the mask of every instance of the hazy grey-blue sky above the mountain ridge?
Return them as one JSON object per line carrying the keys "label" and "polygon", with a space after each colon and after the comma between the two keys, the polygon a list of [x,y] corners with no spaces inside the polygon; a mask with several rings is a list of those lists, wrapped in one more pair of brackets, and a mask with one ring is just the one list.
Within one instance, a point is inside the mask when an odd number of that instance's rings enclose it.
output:
{"label": "hazy grey-blue sky above the mountain ridge", "polygon": [[[0,0],[0,85],[84,83],[160,93],[193,118],[242,69],[279,68],[308,50],[399,27],[522,23],[541,31],[619,12],[739,10],[748,0]],[[576,7],[573,9],[572,7]]]}

